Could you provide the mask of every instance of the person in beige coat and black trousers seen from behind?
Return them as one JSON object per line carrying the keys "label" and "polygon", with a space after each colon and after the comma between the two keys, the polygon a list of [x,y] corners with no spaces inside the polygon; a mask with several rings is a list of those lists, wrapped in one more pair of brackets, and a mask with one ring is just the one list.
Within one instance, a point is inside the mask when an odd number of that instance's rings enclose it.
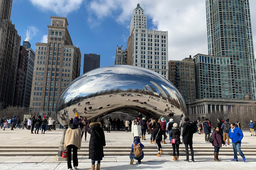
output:
{"label": "person in beige coat and black trousers seen from behind", "polygon": [[78,127],[78,124],[73,123],[65,134],[64,149],[67,150],[67,168],[72,170],[71,165],[71,152],[73,150],[73,166],[75,169],[78,167],[78,157],[77,150],[81,148],[81,129]]}

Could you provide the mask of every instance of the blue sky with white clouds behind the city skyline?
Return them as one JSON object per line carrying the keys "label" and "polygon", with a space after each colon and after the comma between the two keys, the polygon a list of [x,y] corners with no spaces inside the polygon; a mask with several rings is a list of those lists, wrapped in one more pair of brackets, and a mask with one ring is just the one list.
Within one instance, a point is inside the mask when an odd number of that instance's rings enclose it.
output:
{"label": "blue sky with white clouds behind the city skyline", "polygon": [[[81,50],[82,74],[87,53],[101,55],[100,67],[114,64],[116,45],[126,48],[137,3],[145,9],[148,29],[168,31],[169,60],[208,53],[205,0],[13,0],[11,20],[21,42],[30,28],[29,42],[35,51],[35,43],[48,34],[50,16],[67,17],[73,45]],[[254,46],[255,6],[256,0],[250,0]]]}

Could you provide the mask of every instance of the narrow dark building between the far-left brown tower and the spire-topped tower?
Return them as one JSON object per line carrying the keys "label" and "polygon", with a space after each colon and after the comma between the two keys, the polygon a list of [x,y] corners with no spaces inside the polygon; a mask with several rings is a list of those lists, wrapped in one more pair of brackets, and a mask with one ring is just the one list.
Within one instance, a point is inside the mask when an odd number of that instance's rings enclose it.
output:
{"label": "narrow dark building between the far-left brown tower and the spire-topped tower", "polygon": [[22,106],[23,95],[26,82],[26,65],[27,65],[28,51],[23,46],[20,46],[18,70],[15,83],[15,93],[13,105]]}

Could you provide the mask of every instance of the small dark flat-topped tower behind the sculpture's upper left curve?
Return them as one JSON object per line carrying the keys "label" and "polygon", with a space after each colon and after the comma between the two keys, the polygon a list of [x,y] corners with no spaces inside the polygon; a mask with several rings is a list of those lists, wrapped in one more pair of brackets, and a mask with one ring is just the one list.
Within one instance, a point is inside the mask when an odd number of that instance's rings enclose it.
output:
{"label": "small dark flat-topped tower behind the sculpture's upper left curve", "polygon": [[84,72],[87,73],[93,69],[99,68],[100,55],[98,54],[84,54]]}

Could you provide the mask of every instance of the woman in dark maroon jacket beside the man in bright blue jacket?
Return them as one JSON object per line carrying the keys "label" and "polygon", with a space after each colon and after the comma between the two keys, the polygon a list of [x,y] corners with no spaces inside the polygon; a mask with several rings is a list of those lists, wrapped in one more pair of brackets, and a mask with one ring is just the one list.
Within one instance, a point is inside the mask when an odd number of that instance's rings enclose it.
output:
{"label": "woman in dark maroon jacket beside the man in bright blue jacket", "polygon": [[218,153],[220,151],[222,144],[225,144],[225,142],[223,140],[219,127],[214,128],[212,132],[212,140],[212,146],[214,146],[214,160],[221,161],[220,159],[218,159]]}

